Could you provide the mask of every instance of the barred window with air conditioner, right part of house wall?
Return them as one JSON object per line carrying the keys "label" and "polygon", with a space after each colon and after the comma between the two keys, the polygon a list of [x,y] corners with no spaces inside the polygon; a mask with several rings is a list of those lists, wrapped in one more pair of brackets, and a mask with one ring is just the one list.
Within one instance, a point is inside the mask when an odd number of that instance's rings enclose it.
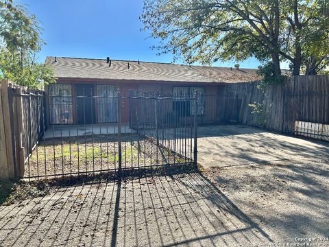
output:
{"label": "barred window with air conditioner, right part of house wall", "polygon": [[204,87],[202,86],[174,86],[173,110],[180,117],[194,116],[194,92],[197,91],[197,115],[204,115]]}

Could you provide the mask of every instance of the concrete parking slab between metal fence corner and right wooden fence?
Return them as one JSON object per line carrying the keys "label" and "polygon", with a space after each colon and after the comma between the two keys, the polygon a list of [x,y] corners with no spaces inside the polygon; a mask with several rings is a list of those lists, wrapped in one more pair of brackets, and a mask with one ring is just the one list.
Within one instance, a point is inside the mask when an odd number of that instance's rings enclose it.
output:
{"label": "concrete parking slab between metal fence corner and right wooden fence", "polygon": [[239,125],[199,127],[197,142],[197,162],[205,168],[269,163],[329,154],[329,143]]}

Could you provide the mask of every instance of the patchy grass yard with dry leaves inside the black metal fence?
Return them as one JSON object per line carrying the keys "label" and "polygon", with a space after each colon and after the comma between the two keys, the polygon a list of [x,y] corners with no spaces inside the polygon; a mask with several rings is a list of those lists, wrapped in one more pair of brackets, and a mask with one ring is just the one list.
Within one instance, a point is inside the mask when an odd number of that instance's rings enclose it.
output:
{"label": "patchy grass yard with dry leaves inside the black metal fence", "polygon": [[[190,160],[158,147],[136,133],[123,134],[122,167],[145,167]],[[62,175],[90,174],[118,168],[119,143],[116,135],[98,134],[40,141],[25,163],[25,177],[53,178]]]}

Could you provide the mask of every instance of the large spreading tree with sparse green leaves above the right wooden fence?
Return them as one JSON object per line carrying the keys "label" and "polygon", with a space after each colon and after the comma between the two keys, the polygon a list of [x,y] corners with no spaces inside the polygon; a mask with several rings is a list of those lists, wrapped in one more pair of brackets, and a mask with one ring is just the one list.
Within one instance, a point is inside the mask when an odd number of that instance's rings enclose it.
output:
{"label": "large spreading tree with sparse green leaves above the right wooden fence", "polygon": [[163,53],[188,63],[255,57],[280,75],[318,73],[329,62],[327,0],[145,0],[141,21]]}

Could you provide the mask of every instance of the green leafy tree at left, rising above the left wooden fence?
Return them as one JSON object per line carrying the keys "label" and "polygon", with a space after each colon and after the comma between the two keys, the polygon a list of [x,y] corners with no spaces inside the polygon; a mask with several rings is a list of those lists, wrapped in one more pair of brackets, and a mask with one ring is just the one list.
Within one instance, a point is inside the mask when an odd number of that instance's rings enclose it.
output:
{"label": "green leafy tree at left, rising above the left wooden fence", "polygon": [[36,62],[45,42],[36,16],[12,0],[0,0],[0,77],[35,89],[54,82],[49,65]]}

